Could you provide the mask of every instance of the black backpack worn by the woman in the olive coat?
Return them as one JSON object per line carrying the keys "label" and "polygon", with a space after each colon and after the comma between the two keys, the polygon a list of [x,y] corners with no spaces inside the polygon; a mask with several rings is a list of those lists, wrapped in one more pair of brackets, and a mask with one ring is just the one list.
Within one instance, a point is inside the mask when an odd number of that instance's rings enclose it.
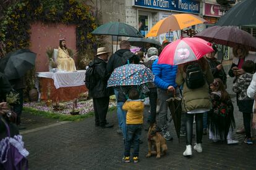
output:
{"label": "black backpack worn by the woman in the olive coat", "polygon": [[205,76],[198,63],[187,66],[186,74],[186,84],[189,89],[198,89],[205,85]]}

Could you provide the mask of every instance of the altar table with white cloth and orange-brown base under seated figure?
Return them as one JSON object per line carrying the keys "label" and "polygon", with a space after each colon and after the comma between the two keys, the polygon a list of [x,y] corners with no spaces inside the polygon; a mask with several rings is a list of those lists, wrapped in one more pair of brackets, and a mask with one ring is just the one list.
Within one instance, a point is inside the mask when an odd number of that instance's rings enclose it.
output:
{"label": "altar table with white cloth and orange-brown base under seated figure", "polygon": [[62,72],[37,72],[41,100],[69,101],[87,92],[85,70]]}

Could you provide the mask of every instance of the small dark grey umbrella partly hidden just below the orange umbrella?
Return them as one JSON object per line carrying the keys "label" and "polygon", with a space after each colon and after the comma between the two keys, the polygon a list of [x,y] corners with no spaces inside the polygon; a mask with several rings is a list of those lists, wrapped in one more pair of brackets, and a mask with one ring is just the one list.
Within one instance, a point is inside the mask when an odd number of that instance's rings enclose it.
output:
{"label": "small dark grey umbrella partly hidden just below the orange umbrella", "polygon": [[155,44],[158,47],[161,47],[161,43],[151,38],[129,38],[127,41],[130,42],[130,45],[136,47],[145,47],[147,43]]}

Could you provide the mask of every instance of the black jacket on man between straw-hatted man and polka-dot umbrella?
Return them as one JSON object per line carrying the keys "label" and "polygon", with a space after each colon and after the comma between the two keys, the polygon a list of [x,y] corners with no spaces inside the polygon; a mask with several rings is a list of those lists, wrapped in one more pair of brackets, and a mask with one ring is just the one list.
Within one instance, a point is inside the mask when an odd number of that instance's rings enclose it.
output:
{"label": "black jacket on man between straw-hatted man and polka-dot umbrella", "polygon": [[117,50],[111,57],[109,58],[108,64],[106,66],[106,70],[109,74],[111,74],[115,68],[124,65],[126,62],[122,57],[124,52],[130,51],[129,49],[119,49]]}

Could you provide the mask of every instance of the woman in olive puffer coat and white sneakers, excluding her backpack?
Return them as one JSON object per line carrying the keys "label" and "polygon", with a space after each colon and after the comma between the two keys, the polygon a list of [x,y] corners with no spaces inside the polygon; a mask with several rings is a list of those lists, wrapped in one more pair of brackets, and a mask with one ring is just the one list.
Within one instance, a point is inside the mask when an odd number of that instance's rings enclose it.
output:
{"label": "woman in olive puffer coat and white sneakers, excluding her backpack", "polygon": [[[187,68],[190,65],[199,65],[203,73],[205,83],[195,89],[190,89],[187,86]],[[203,113],[210,110],[211,102],[208,93],[208,84],[213,82],[213,75],[207,61],[202,58],[195,62],[189,62],[178,67],[176,83],[178,86],[183,84],[182,100],[184,103],[184,111],[186,111],[186,150],[184,156],[192,155],[192,134],[193,121],[195,115],[197,142],[194,145],[194,150],[202,152],[202,137],[203,137]]]}

